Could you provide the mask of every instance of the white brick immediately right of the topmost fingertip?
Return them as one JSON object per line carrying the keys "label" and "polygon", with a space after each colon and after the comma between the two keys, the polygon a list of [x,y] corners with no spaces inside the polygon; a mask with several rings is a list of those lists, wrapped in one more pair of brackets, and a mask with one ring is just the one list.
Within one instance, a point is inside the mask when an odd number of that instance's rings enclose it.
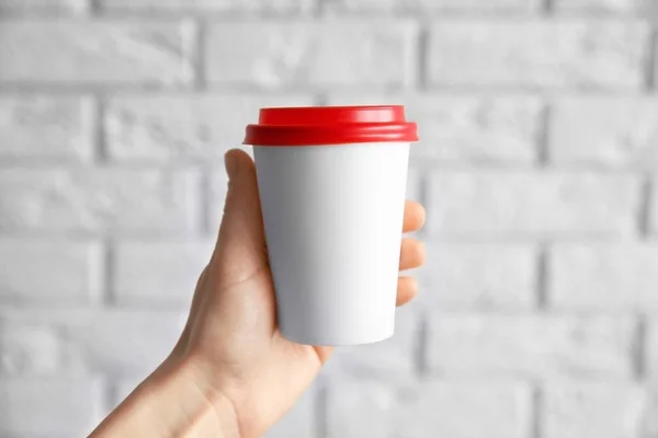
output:
{"label": "white brick immediately right of the topmost fingertip", "polygon": [[440,235],[609,237],[634,232],[634,175],[515,170],[429,176],[428,231]]}

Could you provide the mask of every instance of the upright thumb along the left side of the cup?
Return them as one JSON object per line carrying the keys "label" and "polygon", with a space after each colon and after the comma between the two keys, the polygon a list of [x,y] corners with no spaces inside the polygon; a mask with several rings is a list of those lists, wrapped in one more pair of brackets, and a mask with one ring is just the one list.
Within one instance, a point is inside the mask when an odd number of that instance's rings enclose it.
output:
{"label": "upright thumb along the left side of the cup", "polygon": [[245,151],[224,157],[228,192],[211,266],[225,287],[242,283],[268,264],[256,166]]}

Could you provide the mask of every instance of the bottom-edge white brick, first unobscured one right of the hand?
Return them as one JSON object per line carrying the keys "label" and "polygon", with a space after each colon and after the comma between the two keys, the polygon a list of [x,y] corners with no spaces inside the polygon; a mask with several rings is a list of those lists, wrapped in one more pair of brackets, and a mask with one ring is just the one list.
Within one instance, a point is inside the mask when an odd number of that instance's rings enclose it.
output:
{"label": "bottom-edge white brick, first unobscured one right of the hand", "polygon": [[530,411],[520,383],[345,381],[329,389],[328,436],[521,438]]}

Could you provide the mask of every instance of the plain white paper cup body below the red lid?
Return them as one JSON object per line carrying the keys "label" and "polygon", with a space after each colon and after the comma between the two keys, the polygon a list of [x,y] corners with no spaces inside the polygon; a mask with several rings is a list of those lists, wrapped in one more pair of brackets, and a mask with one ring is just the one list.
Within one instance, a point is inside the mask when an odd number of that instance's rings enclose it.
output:
{"label": "plain white paper cup body below the red lid", "polygon": [[393,335],[409,145],[253,145],[286,338],[355,345]]}

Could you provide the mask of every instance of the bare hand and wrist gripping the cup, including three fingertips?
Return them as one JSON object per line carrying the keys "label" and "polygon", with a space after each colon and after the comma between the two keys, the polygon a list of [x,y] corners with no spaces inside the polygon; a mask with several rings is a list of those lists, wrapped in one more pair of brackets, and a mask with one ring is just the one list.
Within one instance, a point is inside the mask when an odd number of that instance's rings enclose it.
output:
{"label": "bare hand and wrist gripping the cup, including three fingertips", "polygon": [[[281,336],[253,161],[231,150],[225,163],[225,214],[186,326],[169,357],[92,438],[260,437],[331,356],[331,347]],[[402,231],[417,231],[423,222],[422,206],[407,201]],[[402,239],[400,270],[423,262],[422,243]],[[400,276],[397,304],[409,302],[417,291],[413,278]]]}

